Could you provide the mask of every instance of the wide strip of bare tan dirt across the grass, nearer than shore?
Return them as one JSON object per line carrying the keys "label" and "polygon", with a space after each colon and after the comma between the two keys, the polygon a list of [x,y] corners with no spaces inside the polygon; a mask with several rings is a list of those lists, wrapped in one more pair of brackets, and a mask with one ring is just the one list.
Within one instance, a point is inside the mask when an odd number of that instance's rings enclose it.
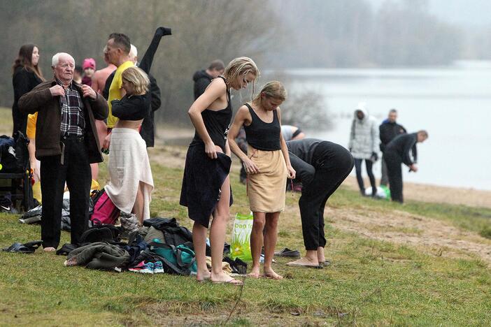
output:
{"label": "wide strip of bare tan dirt across the grass, nearer than shore", "polygon": [[435,256],[481,258],[491,263],[491,240],[443,221],[408,212],[377,212],[366,208],[326,208],[327,217],[342,231],[367,238],[411,245]]}

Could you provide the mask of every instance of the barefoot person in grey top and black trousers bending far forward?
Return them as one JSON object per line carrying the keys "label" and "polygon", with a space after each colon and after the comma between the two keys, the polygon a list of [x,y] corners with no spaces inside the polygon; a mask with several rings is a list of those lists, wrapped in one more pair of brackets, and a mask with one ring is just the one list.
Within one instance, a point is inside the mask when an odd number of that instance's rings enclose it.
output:
{"label": "barefoot person in grey top and black trousers bending far forward", "polygon": [[316,138],[287,141],[296,179],[303,187],[299,200],[301,229],[306,255],[288,266],[321,268],[326,263],[324,247],[324,208],[329,197],[348,177],[353,156],[336,143]]}

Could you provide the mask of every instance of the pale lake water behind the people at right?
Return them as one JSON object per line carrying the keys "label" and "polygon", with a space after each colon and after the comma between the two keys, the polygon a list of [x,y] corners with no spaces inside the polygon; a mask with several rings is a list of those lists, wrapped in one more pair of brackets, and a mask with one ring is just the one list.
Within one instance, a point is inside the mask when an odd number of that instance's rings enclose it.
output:
{"label": "pale lake water behind the people at right", "polygon": [[[425,143],[418,143],[418,173],[404,168],[404,181],[491,190],[490,62],[287,73],[293,81],[291,92],[312,89],[325,97],[326,115],[334,123],[330,130],[307,130],[308,136],[347,147],[357,103],[367,103],[369,114],[380,123],[396,108],[397,122],[409,133],[429,133]],[[373,170],[380,177],[380,161]]]}

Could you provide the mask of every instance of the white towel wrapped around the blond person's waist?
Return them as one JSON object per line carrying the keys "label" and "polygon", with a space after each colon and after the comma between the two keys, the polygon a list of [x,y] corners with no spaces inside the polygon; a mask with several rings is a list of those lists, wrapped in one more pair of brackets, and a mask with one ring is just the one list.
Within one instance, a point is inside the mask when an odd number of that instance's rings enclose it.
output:
{"label": "white towel wrapped around the blond person's waist", "polygon": [[106,192],[122,212],[131,212],[138,184],[143,182],[143,219],[150,219],[152,169],[145,141],[134,129],[113,129],[109,145],[109,182]]}

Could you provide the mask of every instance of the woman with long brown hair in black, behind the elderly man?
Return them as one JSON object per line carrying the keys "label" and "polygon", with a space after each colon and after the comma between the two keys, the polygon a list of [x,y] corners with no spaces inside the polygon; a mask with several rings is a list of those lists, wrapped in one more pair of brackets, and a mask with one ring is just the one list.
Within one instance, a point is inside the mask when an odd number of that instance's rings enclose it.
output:
{"label": "woman with long brown hair in black, behind the elderly man", "polygon": [[19,55],[17,59],[15,59],[12,66],[12,85],[14,89],[14,103],[12,106],[12,136],[15,139],[17,138],[18,131],[25,135],[27,127],[27,115],[19,111],[19,108],[17,108],[17,101],[19,101],[22,95],[30,92],[31,89],[34,89],[36,85],[45,80],[41,70],[38,67],[38,62],[39,49],[37,45],[29,43],[20,47]]}

